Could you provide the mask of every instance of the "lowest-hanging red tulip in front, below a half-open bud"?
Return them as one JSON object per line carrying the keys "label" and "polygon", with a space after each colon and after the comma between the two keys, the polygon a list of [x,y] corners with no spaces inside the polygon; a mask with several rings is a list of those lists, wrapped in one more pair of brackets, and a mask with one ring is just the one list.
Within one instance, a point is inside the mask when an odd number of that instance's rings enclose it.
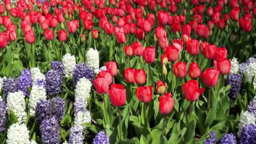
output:
{"label": "lowest-hanging red tulip in front, below a half-open bud", "polygon": [[168,115],[172,111],[173,105],[174,105],[174,100],[171,96],[171,93],[165,93],[165,95],[160,96],[159,111],[163,115]]}

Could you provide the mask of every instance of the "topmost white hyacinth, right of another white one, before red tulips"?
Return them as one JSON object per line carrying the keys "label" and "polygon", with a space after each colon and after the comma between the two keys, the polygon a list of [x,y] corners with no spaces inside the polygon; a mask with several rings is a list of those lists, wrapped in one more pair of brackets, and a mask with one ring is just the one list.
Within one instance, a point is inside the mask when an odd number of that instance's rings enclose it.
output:
{"label": "topmost white hyacinth, right of another white one, before red tulips", "polygon": [[89,48],[86,54],[86,64],[92,67],[96,74],[99,73],[99,52],[93,48]]}

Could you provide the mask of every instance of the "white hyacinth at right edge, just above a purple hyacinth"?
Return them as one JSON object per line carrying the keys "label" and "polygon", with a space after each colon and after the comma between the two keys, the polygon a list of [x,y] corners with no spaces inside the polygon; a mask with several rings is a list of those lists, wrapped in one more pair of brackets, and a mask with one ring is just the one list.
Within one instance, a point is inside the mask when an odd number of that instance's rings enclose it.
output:
{"label": "white hyacinth at right edge, just above a purple hyacinth", "polygon": [[248,124],[255,125],[256,117],[248,111],[245,111],[240,116],[240,123],[238,124],[238,136],[242,133],[243,127]]}

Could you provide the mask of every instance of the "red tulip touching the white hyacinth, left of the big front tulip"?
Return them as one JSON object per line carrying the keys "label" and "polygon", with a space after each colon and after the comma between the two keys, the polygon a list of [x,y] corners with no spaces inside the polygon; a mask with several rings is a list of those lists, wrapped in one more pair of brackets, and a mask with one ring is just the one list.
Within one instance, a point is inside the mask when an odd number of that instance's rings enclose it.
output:
{"label": "red tulip touching the white hyacinth, left of the big front tulip", "polygon": [[106,94],[109,89],[107,80],[104,77],[97,77],[93,81],[94,88],[99,94]]}

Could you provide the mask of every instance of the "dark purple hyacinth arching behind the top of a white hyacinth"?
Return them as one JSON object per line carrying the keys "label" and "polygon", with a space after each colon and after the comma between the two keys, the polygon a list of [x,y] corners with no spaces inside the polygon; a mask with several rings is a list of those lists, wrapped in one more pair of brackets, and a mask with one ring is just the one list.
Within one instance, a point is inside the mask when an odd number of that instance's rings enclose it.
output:
{"label": "dark purple hyacinth arching behind the top of a white hyacinth", "polygon": [[83,77],[93,82],[94,76],[95,74],[93,69],[91,67],[86,66],[84,62],[81,64],[76,64],[73,69],[74,85],[76,85],[80,78]]}

